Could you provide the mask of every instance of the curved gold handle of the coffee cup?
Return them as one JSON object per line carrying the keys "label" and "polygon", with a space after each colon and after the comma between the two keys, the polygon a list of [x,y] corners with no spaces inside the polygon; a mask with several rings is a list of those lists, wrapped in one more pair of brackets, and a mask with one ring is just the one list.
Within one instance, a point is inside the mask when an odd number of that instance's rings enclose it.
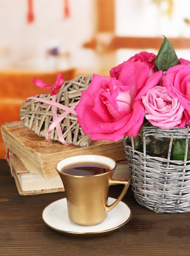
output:
{"label": "curved gold handle of the coffee cup", "polygon": [[130,185],[130,181],[129,180],[110,180],[109,182],[109,186],[111,185],[124,185],[123,191],[121,192],[120,196],[116,199],[116,201],[113,204],[107,205],[106,207],[106,211],[110,211],[112,210],[123,198],[123,196],[125,195],[125,193],[127,192],[127,189],[129,188]]}

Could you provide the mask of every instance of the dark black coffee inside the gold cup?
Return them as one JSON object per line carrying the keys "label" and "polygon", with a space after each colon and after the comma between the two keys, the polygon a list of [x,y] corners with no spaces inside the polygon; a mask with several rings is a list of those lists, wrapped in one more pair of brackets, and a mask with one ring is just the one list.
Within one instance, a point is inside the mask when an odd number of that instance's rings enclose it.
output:
{"label": "dark black coffee inside the gold cup", "polygon": [[109,166],[106,164],[99,164],[99,163],[76,163],[76,164],[69,164],[65,166],[61,172],[67,173],[70,175],[77,175],[77,176],[88,176],[88,175],[96,175],[101,173],[106,173],[110,171]]}

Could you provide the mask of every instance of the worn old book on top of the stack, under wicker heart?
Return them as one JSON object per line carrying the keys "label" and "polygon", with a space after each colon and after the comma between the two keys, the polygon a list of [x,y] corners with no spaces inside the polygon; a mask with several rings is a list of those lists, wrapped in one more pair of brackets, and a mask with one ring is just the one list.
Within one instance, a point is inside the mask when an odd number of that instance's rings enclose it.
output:
{"label": "worn old book on top of the stack, under wicker heart", "polygon": [[63,145],[56,141],[46,141],[39,137],[22,121],[5,123],[1,127],[2,139],[7,148],[15,154],[27,171],[40,174],[45,180],[58,176],[55,165],[61,159],[74,155],[104,155],[116,162],[126,162],[123,141],[91,141],[90,146],[80,148]]}

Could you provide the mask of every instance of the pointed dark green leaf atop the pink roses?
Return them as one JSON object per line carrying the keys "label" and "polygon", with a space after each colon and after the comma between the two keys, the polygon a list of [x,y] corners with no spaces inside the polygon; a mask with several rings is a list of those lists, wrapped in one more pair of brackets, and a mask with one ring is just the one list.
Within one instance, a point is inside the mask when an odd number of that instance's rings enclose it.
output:
{"label": "pointed dark green leaf atop the pink roses", "polygon": [[170,41],[164,36],[163,43],[154,61],[157,70],[167,71],[169,67],[178,65],[179,59]]}

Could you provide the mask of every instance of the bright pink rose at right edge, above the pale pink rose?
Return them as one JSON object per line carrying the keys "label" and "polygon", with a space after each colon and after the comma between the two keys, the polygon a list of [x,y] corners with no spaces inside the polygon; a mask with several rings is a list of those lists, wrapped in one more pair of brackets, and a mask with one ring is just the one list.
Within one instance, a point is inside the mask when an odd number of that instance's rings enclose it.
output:
{"label": "bright pink rose at right edge, above the pale pink rose", "polygon": [[185,109],[190,109],[190,64],[170,67],[163,79],[163,86]]}

